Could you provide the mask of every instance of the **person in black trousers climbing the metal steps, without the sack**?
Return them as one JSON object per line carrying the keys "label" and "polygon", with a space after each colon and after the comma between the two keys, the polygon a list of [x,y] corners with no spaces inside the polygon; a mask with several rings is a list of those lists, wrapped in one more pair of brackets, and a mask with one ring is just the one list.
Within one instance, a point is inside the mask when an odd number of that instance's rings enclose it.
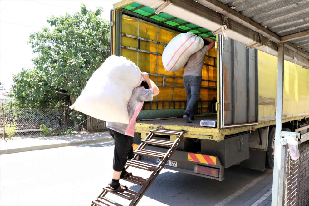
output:
{"label": "person in black trousers climbing the metal steps, without the sack", "polygon": [[112,192],[120,192],[127,189],[119,183],[119,179],[131,175],[125,171],[125,163],[133,158],[133,137],[137,115],[143,107],[144,101],[151,101],[154,96],[159,94],[159,88],[150,80],[147,72],[143,72],[144,81],[140,86],[132,91],[132,96],[128,102],[128,113],[130,124],[117,122],[107,122],[107,130],[115,140],[113,178],[109,186]]}

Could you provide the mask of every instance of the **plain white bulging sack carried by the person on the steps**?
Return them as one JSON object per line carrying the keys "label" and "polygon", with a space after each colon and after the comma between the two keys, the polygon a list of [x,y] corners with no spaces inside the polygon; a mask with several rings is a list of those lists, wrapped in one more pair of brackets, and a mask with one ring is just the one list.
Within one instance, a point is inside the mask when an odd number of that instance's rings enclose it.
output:
{"label": "plain white bulging sack carried by the person on the steps", "polygon": [[112,55],[92,74],[70,108],[100,120],[129,124],[127,104],[142,80],[132,61]]}

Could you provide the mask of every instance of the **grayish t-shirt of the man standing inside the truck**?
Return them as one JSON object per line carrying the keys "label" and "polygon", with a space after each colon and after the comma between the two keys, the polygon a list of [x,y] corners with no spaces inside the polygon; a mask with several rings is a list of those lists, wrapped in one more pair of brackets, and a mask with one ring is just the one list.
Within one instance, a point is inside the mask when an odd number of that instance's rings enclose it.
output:
{"label": "grayish t-shirt of the man standing inside the truck", "polygon": [[206,45],[190,56],[188,62],[184,65],[184,76],[202,76],[207,49],[208,46]]}

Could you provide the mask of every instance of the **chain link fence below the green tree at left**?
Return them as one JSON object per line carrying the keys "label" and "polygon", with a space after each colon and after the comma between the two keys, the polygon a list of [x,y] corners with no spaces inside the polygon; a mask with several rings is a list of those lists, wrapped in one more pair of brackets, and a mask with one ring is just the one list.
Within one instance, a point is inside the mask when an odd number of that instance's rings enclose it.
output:
{"label": "chain link fence below the green tree at left", "polygon": [[0,138],[71,135],[87,130],[87,115],[68,107],[61,109],[4,109]]}

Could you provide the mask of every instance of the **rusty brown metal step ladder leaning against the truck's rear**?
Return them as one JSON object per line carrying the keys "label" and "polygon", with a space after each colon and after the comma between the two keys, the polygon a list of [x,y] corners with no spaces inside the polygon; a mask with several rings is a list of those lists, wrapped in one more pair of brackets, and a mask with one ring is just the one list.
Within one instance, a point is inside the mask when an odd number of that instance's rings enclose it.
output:
{"label": "rusty brown metal step ladder leaning against the truck's rear", "polygon": [[[166,141],[166,140],[157,140],[153,139],[155,135],[169,135],[169,136],[176,136],[176,139],[174,142],[172,141]],[[146,136],[146,138],[142,141],[142,143],[138,146],[138,148],[134,151],[135,155],[134,157],[127,161],[125,164],[125,169],[128,167],[135,167],[138,169],[143,169],[147,171],[152,171],[150,177],[148,179],[144,179],[142,177],[130,175],[123,180],[137,184],[142,185],[139,192],[135,192],[133,190],[127,189],[123,192],[110,192],[111,187],[104,187],[101,194],[97,197],[96,200],[92,201],[91,206],[105,206],[105,205],[117,205],[120,206],[121,204],[116,203],[115,201],[106,198],[106,194],[112,193],[115,195],[118,195],[124,199],[130,200],[130,206],[136,205],[140,199],[143,197],[147,189],[150,187],[150,185],[153,183],[154,179],[159,175],[160,171],[164,168],[164,165],[167,163],[169,158],[172,156],[176,148],[178,147],[181,140],[183,140],[183,132],[182,131],[175,131],[175,130],[151,130],[150,133]],[[152,150],[146,150],[145,147],[147,145],[159,145],[164,147],[169,147],[169,150],[166,153],[162,152],[156,152]],[[148,156],[148,157],[154,157],[162,159],[159,164],[149,164],[138,160],[138,156]],[[126,204],[128,205],[128,204]]]}

